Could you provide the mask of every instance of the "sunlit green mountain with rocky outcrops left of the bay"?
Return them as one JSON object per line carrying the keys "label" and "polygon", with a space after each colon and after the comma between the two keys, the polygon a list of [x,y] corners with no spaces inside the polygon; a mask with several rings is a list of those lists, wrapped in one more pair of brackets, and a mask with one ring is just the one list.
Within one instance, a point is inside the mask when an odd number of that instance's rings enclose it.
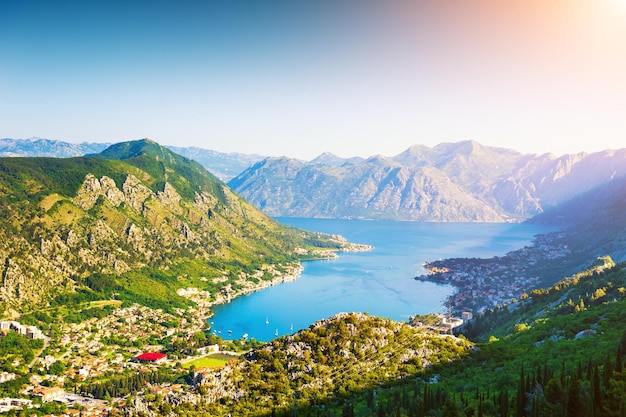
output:
{"label": "sunlit green mountain with rocky outcrops left of the bay", "polygon": [[184,304],[183,285],[214,299],[258,283],[258,271],[284,273],[324,240],[279,225],[150,140],[89,157],[0,158],[0,213],[2,310],[65,293],[171,309]]}

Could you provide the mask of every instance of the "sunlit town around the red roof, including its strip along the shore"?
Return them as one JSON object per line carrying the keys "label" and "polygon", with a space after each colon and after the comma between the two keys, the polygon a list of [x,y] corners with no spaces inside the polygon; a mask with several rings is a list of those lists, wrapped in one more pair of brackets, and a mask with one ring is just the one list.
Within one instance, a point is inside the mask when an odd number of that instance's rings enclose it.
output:
{"label": "sunlit town around the red roof, including its strip along the shore", "polygon": [[[256,284],[242,275],[237,291],[225,285],[222,291],[210,294],[198,288],[180,288],[177,294],[192,302],[187,308],[173,311],[149,308],[139,304],[126,305],[119,300],[102,300],[77,307],[84,316],[70,319],[66,315],[42,330],[15,320],[0,321],[0,338],[21,337],[34,343],[27,355],[7,355],[10,368],[0,374],[0,392],[5,383],[26,378],[17,396],[0,398],[0,412],[40,409],[55,404],[55,416],[104,416],[124,406],[124,395],[109,396],[101,392],[101,381],[113,377],[147,375],[162,371],[167,379],[188,379],[190,384],[171,381],[148,382],[151,396],[163,397],[170,392],[193,389],[211,372],[202,366],[203,358],[219,357],[214,362],[226,364],[241,352],[256,346],[254,339],[222,340],[211,332],[207,321],[211,307],[231,298],[249,294],[267,286],[296,279],[302,266],[288,265],[284,270],[269,269],[271,279]],[[256,276],[260,278],[262,272]],[[223,278],[213,278],[221,281]],[[44,309],[45,311],[45,309]],[[196,366],[196,363],[200,365]],[[143,396],[140,391],[137,395]]]}

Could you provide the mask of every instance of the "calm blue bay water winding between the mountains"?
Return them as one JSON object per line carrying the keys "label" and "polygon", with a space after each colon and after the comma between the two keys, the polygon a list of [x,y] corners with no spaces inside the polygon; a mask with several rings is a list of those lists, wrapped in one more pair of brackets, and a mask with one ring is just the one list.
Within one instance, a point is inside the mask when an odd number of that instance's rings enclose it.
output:
{"label": "calm blue bay water winding between the mountains", "polygon": [[269,341],[276,332],[280,336],[293,333],[345,311],[399,321],[415,314],[441,312],[454,288],[414,280],[424,272],[424,262],[504,255],[530,243],[535,234],[549,230],[539,225],[506,223],[278,220],[303,229],[341,234],[351,242],[372,245],[374,250],[305,262],[304,272],[296,281],[215,306],[212,329],[224,338],[240,338],[247,333],[251,338]]}

